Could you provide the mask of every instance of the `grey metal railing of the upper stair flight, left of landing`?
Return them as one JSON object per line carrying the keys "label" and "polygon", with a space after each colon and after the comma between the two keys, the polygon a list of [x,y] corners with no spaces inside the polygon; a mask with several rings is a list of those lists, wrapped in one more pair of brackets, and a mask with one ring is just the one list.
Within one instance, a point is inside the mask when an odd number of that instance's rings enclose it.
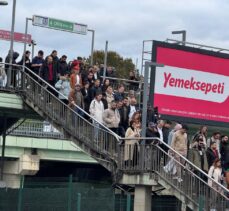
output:
{"label": "grey metal railing of the upper stair flight, left of landing", "polygon": [[23,71],[21,66],[13,65],[11,84],[0,87],[1,89],[18,91],[29,106],[51,124],[54,123],[57,129],[62,128],[65,134],[83,144],[86,147],[84,150],[88,149],[91,153],[98,153],[114,161],[117,156],[118,135],[80,107],[75,105],[75,109],[71,109],[64,104],[57,97],[61,93],[28,68],[25,67]]}

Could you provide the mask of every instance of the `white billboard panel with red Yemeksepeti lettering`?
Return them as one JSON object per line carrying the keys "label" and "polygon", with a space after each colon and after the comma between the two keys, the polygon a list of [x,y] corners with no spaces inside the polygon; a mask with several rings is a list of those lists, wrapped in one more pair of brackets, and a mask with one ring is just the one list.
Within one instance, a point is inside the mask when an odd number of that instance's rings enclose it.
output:
{"label": "white billboard panel with red Yemeksepeti lettering", "polygon": [[222,103],[229,96],[229,76],[169,66],[157,68],[155,93]]}

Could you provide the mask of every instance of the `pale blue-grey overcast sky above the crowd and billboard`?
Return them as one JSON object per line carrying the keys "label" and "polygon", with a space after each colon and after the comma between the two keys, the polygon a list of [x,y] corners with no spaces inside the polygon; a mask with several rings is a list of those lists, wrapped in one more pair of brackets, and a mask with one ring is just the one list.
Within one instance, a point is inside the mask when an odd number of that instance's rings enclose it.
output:
{"label": "pale blue-grey overcast sky above the crowd and billboard", "polygon": [[[12,2],[0,6],[0,29],[11,29]],[[143,40],[181,39],[173,30],[187,30],[187,41],[229,48],[228,0],[17,0],[15,31],[24,32],[25,18],[34,14],[87,24],[94,29],[95,49],[117,51],[126,58],[138,59],[141,65]],[[58,55],[88,57],[91,33],[78,35],[35,27],[29,23],[29,34],[45,55],[53,49]],[[0,56],[5,57],[9,42],[0,41]],[[20,53],[23,44],[15,43]]]}

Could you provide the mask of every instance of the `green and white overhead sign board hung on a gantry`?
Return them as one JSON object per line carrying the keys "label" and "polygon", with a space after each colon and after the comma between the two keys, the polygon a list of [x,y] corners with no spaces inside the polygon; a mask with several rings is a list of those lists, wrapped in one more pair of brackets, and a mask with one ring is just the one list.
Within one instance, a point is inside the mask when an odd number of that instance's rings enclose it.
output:
{"label": "green and white overhead sign board hung on a gantry", "polygon": [[85,24],[79,24],[79,23],[69,22],[65,20],[39,16],[39,15],[33,16],[33,25],[61,30],[61,31],[72,32],[76,34],[82,34],[82,35],[87,34],[87,25]]}

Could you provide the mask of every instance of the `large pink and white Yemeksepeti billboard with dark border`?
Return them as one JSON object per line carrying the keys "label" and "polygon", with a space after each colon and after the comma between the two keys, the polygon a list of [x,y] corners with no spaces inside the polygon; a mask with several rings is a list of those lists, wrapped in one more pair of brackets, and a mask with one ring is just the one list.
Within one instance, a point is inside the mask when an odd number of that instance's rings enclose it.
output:
{"label": "large pink and white Yemeksepeti billboard with dark border", "polygon": [[229,125],[229,54],[154,41],[150,96],[162,118]]}

